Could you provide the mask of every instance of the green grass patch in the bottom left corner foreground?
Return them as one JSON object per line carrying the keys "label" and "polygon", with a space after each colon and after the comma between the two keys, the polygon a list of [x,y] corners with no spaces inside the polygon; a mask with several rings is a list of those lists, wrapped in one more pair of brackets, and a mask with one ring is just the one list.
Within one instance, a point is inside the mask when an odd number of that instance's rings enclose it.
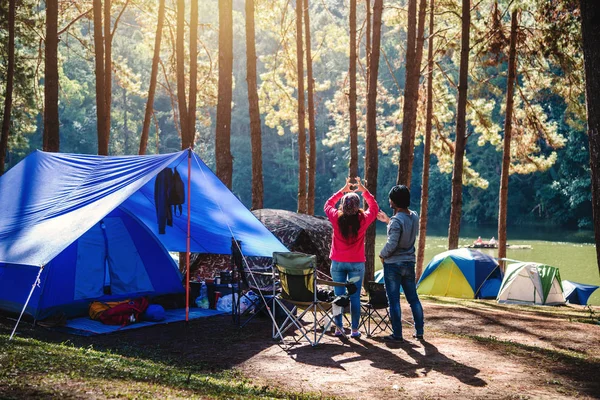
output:
{"label": "green grass patch in the bottom left corner foreground", "polygon": [[236,370],[206,372],[130,355],[0,335],[1,398],[321,399],[318,394],[257,387]]}

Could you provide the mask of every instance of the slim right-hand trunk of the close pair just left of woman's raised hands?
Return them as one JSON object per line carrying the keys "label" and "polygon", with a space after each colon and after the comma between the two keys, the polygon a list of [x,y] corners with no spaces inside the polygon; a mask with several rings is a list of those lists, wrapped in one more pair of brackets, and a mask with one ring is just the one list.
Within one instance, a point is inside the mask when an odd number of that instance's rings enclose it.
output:
{"label": "slim right-hand trunk of the close pair just left of woman's raised hands", "polygon": [[315,215],[315,181],[317,168],[317,128],[315,126],[315,82],[312,73],[312,54],[310,49],[310,15],[308,0],[304,0],[304,36],[306,42],[306,80],[308,82],[308,193],[306,211]]}

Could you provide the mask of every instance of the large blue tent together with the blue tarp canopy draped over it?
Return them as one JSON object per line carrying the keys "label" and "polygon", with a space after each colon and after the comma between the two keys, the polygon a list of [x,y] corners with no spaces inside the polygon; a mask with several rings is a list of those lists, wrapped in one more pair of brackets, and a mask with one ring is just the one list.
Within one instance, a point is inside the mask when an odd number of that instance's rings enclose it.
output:
{"label": "large blue tent together with the blue tarp canopy draped over it", "polygon": [[[287,251],[193,152],[95,156],[37,151],[0,177],[0,309],[41,318],[90,299],[183,291],[168,251],[185,252],[187,206],[158,232],[156,176],[191,161],[190,250],[247,256]],[[107,287],[109,290],[107,291]],[[38,289],[39,288],[39,289]]]}

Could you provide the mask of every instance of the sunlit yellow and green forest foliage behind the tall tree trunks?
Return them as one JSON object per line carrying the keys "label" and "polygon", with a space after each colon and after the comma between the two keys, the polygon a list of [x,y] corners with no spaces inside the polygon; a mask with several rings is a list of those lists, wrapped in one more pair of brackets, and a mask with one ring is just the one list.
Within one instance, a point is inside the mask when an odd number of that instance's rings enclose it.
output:
{"label": "sunlit yellow and green forest foliage behind the tall tree trunks", "polygon": [[[12,0],[11,0],[12,1]],[[189,85],[189,76],[178,81],[177,3],[174,0],[113,0],[109,2],[110,91],[108,154],[138,154],[145,119],[155,47],[159,5],[164,4],[164,24],[156,77],[153,112],[148,128],[146,154],[179,151],[182,148],[181,93],[178,85]],[[298,114],[297,114],[297,1],[255,0],[256,76],[261,115],[264,208],[298,209]],[[0,7],[0,104],[5,103],[4,78],[8,65],[8,1]],[[49,5],[55,3],[47,2]],[[96,1],[59,1],[58,7],[58,116],[60,152],[98,154],[96,57],[93,7]],[[189,57],[189,9],[186,2],[185,49]],[[227,1],[221,2],[227,3]],[[232,26],[231,155],[233,192],[252,207],[252,145],[248,104],[246,24],[247,2],[234,0]],[[367,127],[368,56],[367,30],[375,29],[378,0],[320,0],[309,4],[311,68],[314,81],[314,129],[316,164],[314,212],[322,214],[325,200],[349,175],[351,161],[349,65],[350,3],[356,7],[355,35],[358,47],[355,96],[357,97],[358,175],[365,176]],[[427,3],[426,9],[411,4]],[[426,126],[429,0],[386,0],[383,2],[378,65],[377,199],[388,208],[387,193],[396,184],[400,141],[403,132],[407,87],[407,43],[424,42],[417,87],[416,129],[410,185],[411,207],[419,211]],[[473,1],[470,29],[469,90],[467,94],[465,172],[462,221],[497,224],[502,173],[507,71],[511,15],[510,1]],[[521,2],[523,3],[523,2]],[[534,168],[512,168],[509,177],[507,221],[512,224],[552,224],[568,228],[592,228],[590,167],[586,135],[585,96],[578,15],[550,15],[545,1],[530,1],[519,10],[516,36],[517,62],[513,137],[516,143],[531,142],[533,153],[515,154],[529,158]],[[559,2],[561,3],[561,2]],[[562,3],[568,4],[568,1]],[[17,1],[15,17],[15,71],[12,127],[8,140],[6,169],[27,154],[44,148],[44,58],[47,35],[43,2]],[[432,2],[433,4],[433,2]],[[215,131],[219,102],[219,10],[217,1],[199,1],[197,43],[197,107],[194,151],[217,169]],[[433,120],[431,170],[429,176],[429,220],[447,223],[452,197],[452,141],[455,135],[461,47],[460,2],[436,0],[433,57]],[[511,8],[513,7],[513,8]],[[419,35],[421,12],[424,32]],[[567,9],[568,12],[568,9]],[[547,17],[547,18],[546,18]],[[412,18],[412,20],[411,20]],[[463,15],[464,18],[464,15]],[[546,19],[544,19],[546,18]],[[556,31],[544,24],[557,18]],[[433,20],[433,18],[432,18]],[[411,24],[417,28],[411,39]],[[563,29],[563,31],[561,31]],[[102,32],[102,31],[100,31]],[[464,30],[463,30],[464,32]],[[542,32],[542,33],[540,33]],[[568,34],[565,34],[567,32]],[[305,31],[306,33],[306,31]],[[520,35],[520,36],[519,36]],[[104,35],[106,40],[106,35]],[[572,39],[572,40],[571,40]],[[374,40],[374,39],[373,39]],[[571,41],[570,41],[571,40]],[[96,42],[97,43],[97,42]],[[108,42],[106,42],[108,43]],[[543,45],[542,45],[543,44]],[[97,45],[96,45],[97,46]],[[105,54],[108,51],[105,44]],[[304,46],[304,51],[307,48]],[[410,49],[409,49],[410,50]],[[414,49],[413,49],[414,50]],[[414,51],[412,52],[415,55]],[[303,56],[306,54],[303,53]],[[304,68],[308,64],[304,63]],[[185,73],[189,73],[185,64]],[[305,72],[303,72],[304,74]],[[106,79],[106,78],[105,78]],[[107,82],[107,81],[104,81]],[[304,85],[308,85],[305,79]],[[101,85],[102,86],[102,85]],[[413,95],[415,89],[413,88]],[[185,92],[185,90],[184,90]],[[188,90],[189,93],[189,90]],[[185,99],[186,94],[183,94]],[[529,107],[529,110],[528,110]],[[529,114],[528,114],[529,113]],[[309,129],[309,115],[306,113]],[[538,119],[528,123],[528,119]],[[538,137],[531,139],[529,131]],[[522,135],[519,137],[519,135]],[[302,140],[306,140],[302,138]],[[449,143],[449,144],[448,144]],[[308,146],[308,144],[307,144]],[[308,150],[307,150],[308,151]],[[532,155],[533,154],[533,155]],[[518,164],[518,163],[517,163]],[[521,166],[524,163],[520,163]]]}

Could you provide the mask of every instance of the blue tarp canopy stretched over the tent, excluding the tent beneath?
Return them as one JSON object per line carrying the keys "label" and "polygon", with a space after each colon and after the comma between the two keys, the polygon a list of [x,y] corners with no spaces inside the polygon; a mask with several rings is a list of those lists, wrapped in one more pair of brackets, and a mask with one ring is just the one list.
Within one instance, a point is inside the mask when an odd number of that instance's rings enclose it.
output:
{"label": "blue tarp canopy stretched over the tent, excluding the tent beneath", "polygon": [[[178,167],[187,190],[188,151],[155,156],[36,151],[0,178],[0,262],[42,266],[119,207],[140,219],[169,251],[186,251],[187,204],[158,234],[154,178]],[[285,247],[194,153],[191,251],[230,254],[231,237],[248,256]]]}

